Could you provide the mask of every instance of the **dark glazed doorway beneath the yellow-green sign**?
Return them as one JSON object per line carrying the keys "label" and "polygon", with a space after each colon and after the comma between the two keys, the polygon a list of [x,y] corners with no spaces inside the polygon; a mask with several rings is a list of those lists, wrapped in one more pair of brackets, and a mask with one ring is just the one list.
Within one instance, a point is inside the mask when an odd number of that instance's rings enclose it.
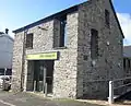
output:
{"label": "dark glazed doorway beneath the yellow-green sign", "polygon": [[[47,83],[47,93],[52,93],[53,81],[53,60],[33,60],[32,67],[32,91],[45,93]],[[28,61],[29,63],[29,61]],[[29,75],[28,75],[29,76]]]}

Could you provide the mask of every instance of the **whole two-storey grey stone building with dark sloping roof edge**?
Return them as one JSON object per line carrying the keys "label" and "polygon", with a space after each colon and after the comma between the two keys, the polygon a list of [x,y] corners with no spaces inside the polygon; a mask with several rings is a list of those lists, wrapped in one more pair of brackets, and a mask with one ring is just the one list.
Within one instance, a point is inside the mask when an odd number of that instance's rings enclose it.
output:
{"label": "whole two-storey grey stone building with dark sloping roof edge", "polygon": [[105,98],[123,76],[123,34],[111,0],[88,0],[13,31],[12,90]]}

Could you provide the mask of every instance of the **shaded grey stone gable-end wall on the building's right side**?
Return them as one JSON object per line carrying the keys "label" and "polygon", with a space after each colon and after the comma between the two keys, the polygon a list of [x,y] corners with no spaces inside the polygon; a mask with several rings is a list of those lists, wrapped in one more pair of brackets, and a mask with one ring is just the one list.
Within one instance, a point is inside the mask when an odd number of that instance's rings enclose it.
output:
{"label": "shaded grey stone gable-end wall on the building's right side", "polygon": [[[105,24],[110,13],[110,28]],[[98,58],[91,58],[91,28],[98,31]],[[122,35],[109,0],[90,0],[79,9],[78,96],[107,97],[108,80],[122,78]],[[109,46],[107,45],[109,43]],[[84,60],[84,56],[87,60]],[[93,61],[96,63],[92,66]]]}

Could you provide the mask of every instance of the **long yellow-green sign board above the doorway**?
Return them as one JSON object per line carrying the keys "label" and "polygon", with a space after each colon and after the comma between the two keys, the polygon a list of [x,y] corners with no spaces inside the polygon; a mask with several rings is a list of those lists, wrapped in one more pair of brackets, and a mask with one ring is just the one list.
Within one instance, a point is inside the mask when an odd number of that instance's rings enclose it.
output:
{"label": "long yellow-green sign board above the doorway", "polygon": [[27,60],[56,60],[58,59],[58,52],[43,52],[43,54],[34,54],[26,55]]}

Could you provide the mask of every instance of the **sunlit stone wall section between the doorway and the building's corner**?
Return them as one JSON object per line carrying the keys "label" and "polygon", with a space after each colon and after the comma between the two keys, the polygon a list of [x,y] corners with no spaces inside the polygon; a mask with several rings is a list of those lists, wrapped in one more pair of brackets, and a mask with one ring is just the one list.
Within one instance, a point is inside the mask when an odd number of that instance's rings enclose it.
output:
{"label": "sunlit stone wall section between the doorway and the building's corner", "polygon": [[60,60],[55,61],[55,97],[76,97],[78,16],[78,13],[67,16],[67,49],[58,49]]}

